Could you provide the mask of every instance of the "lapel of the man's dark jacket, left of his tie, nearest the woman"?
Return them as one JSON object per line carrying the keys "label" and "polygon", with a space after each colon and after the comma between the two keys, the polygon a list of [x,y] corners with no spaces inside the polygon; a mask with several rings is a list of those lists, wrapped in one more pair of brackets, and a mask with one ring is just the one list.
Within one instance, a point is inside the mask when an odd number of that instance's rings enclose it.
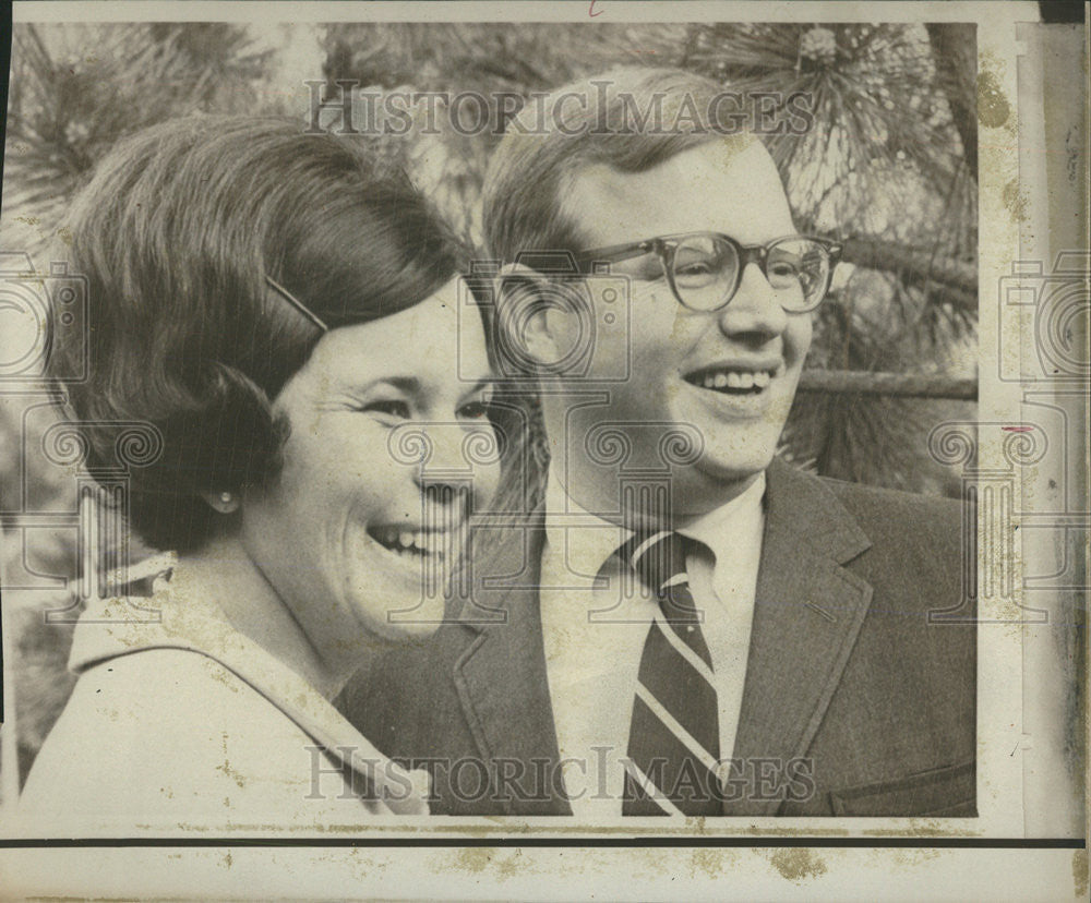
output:
{"label": "lapel of the man's dark jacket, left of his tie, nearest the woman", "polygon": [[[476,635],[454,667],[463,710],[487,763],[506,759],[523,769],[524,797],[502,798],[508,815],[571,815],[550,780],[560,752],[539,611],[540,513],[527,526],[477,542],[493,551],[475,567],[469,595],[461,601],[459,621]],[[505,795],[512,793],[508,788]]]}

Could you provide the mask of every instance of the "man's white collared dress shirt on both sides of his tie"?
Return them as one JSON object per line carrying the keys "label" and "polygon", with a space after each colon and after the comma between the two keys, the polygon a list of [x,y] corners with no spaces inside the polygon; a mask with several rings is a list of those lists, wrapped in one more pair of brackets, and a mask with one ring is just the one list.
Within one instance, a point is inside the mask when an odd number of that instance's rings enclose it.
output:
{"label": "man's white collared dress shirt on both sides of his tie", "polygon": [[[757,586],[765,474],[738,497],[678,532],[703,543],[686,558],[704,612],[720,722],[720,758],[734,747]],[[632,531],[565,495],[556,473],[546,494],[541,616],[546,667],[565,791],[577,817],[621,815],[637,672],[658,602],[614,553]]]}

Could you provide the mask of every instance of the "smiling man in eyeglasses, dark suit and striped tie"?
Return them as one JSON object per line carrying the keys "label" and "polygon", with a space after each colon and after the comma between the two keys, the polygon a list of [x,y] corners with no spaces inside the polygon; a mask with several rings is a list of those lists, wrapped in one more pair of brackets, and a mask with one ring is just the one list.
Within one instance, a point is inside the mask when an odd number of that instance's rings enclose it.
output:
{"label": "smiling man in eyeglasses, dark suit and striped tie", "polygon": [[974,629],[930,618],[959,506],[775,457],[838,248],[720,96],[613,72],[490,165],[544,506],[480,529],[451,623],[343,699],[435,812],[975,814]]}

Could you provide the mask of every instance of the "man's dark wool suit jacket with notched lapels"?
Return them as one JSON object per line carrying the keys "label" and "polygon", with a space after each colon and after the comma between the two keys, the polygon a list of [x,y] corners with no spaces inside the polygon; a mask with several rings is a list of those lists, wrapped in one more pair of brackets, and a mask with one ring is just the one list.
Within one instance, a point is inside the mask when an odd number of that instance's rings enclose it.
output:
{"label": "man's dark wool suit jacket with notched lapels", "polygon": [[[976,815],[961,506],[781,461],[766,505],[729,772],[741,790],[724,815]],[[493,540],[461,619],[381,659],[339,706],[383,752],[432,771],[433,812],[568,815],[536,589],[542,519]],[[960,617],[930,618],[944,610]]]}

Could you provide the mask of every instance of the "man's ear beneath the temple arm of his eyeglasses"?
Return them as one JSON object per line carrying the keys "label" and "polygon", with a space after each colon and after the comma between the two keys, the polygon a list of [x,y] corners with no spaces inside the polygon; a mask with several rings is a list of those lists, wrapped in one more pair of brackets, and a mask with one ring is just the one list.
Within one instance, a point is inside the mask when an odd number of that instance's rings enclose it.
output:
{"label": "man's ear beneath the temple arm of his eyeglasses", "polygon": [[563,372],[579,333],[575,286],[559,286],[523,264],[506,265],[496,277],[500,324],[507,352],[523,369]]}

